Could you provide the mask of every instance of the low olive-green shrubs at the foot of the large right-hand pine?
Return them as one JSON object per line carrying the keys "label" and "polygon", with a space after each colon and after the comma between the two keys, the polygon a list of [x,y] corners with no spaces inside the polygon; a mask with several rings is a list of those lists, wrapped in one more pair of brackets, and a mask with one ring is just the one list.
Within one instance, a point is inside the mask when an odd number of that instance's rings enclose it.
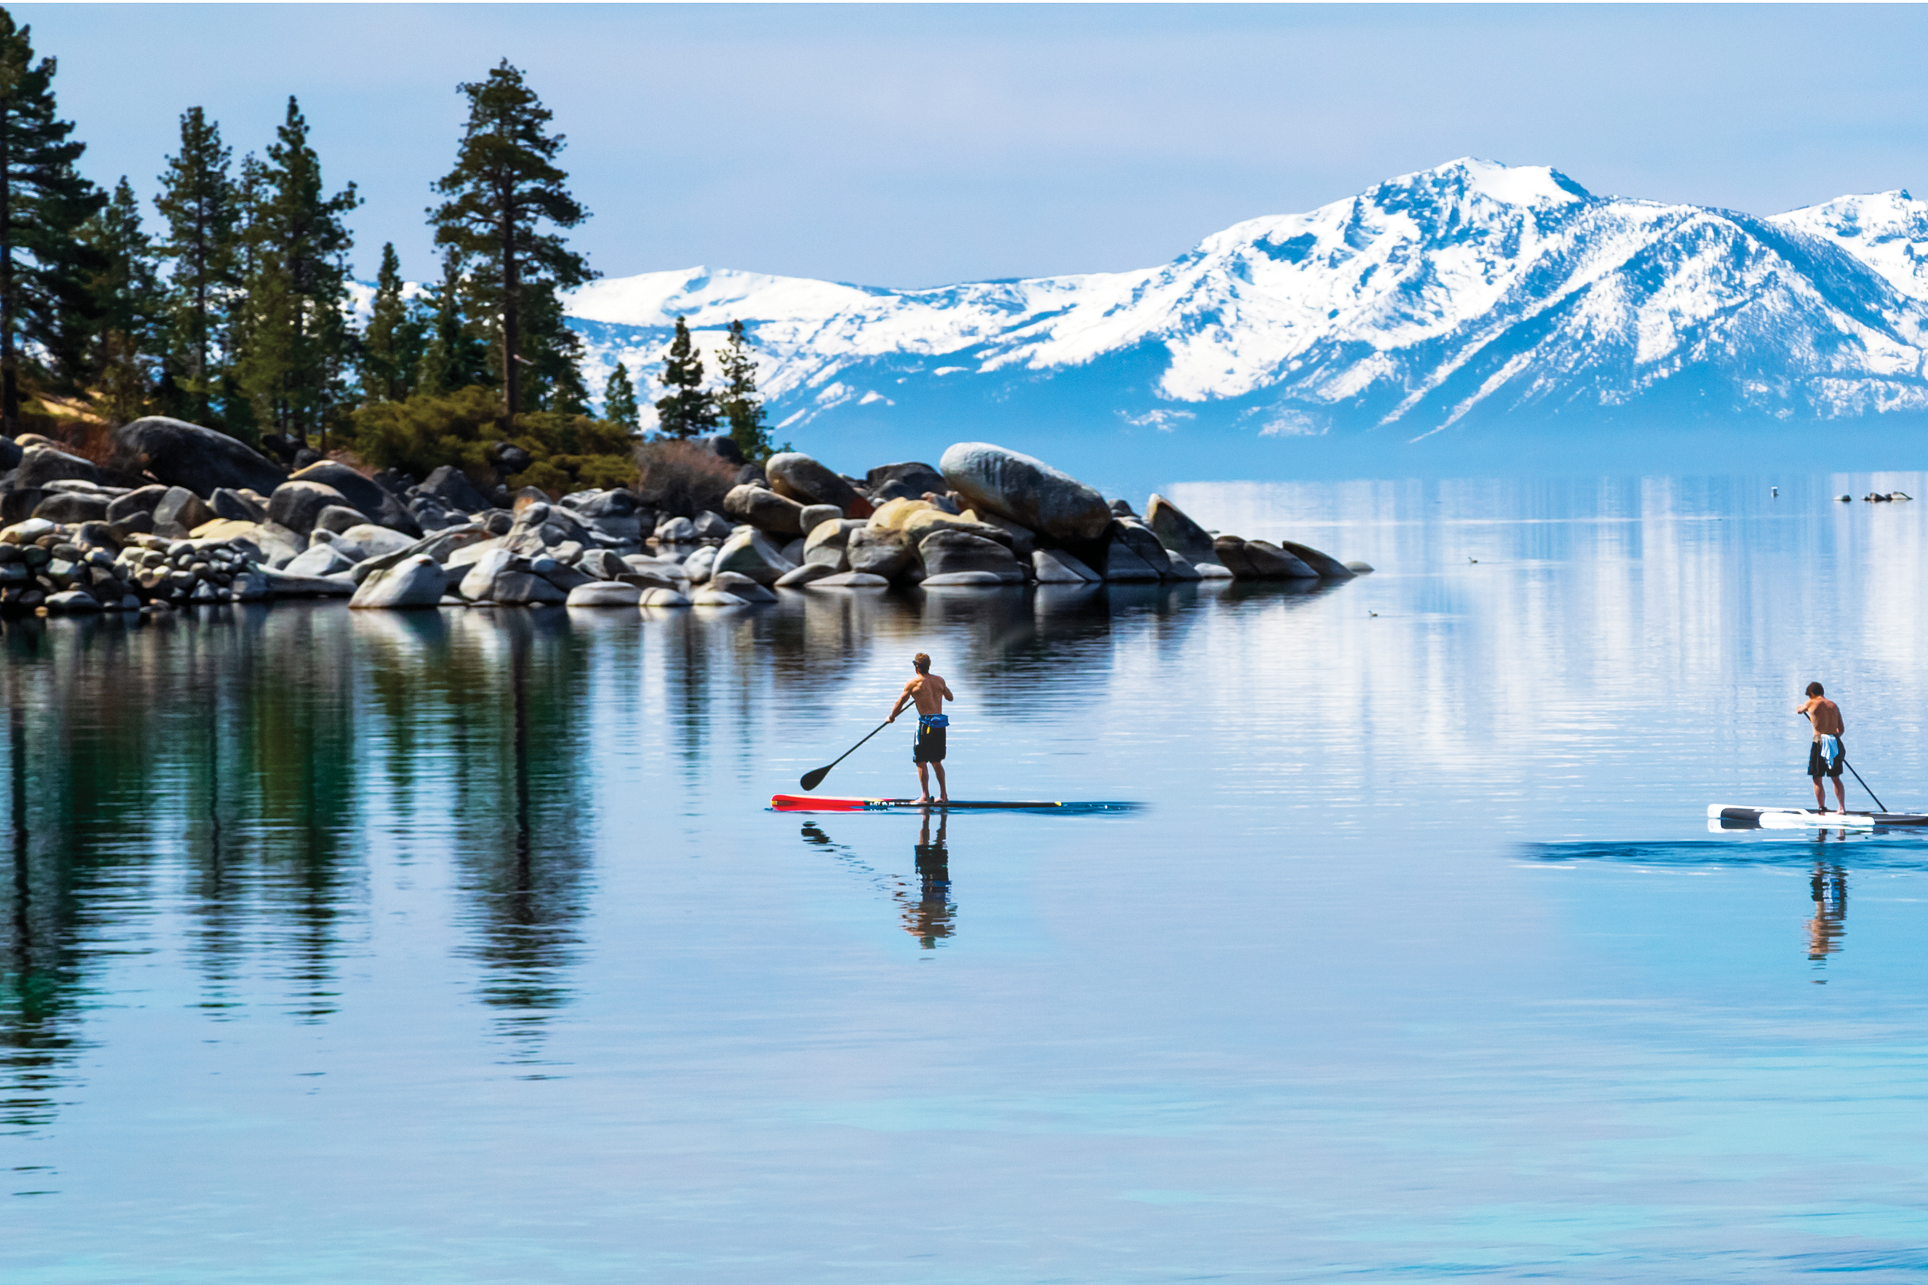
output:
{"label": "low olive-green shrubs at the foot of the large right-hand pine", "polygon": [[[634,485],[632,445],[634,437],[621,424],[584,414],[536,410],[505,424],[499,395],[488,387],[418,393],[355,412],[355,453],[376,468],[426,478],[455,464],[478,485],[534,485],[551,495]],[[503,447],[519,447],[530,462],[503,470]]]}

